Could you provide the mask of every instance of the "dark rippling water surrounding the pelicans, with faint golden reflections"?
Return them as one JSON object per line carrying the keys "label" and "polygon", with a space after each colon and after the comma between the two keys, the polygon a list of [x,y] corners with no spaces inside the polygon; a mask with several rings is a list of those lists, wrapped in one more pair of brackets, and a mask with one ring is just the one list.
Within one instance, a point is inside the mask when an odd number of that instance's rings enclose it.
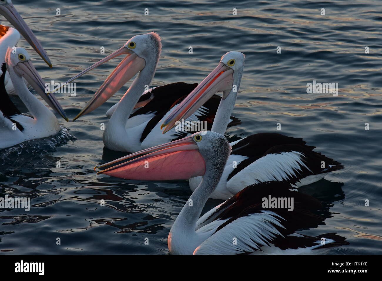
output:
{"label": "dark rippling water surrounding the pelicans, with faint golden reflections", "polygon": [[[351,243],[332,254],[382,254],[381,1],[80,1],[15,0],[47,50],[49,69],[21,40],[45,81],[64,82],[156,31],[163,51],[151,86],[200,82],[230,50],[246,54],[230,140],[276,131],[302,137],[346,168],[301,190],[324,201],[325,224],[301,233],[338,232]],[[61,16],[56,16],[56,9]],[[149,16],[144,9],[149,8]],[[237,8],[237,16],[232,9]],[[325,16],[320,9],[325,8]],[[2,23],[5,23],[1,18]],[[6,23],[5,23],[6,24]],[[188,47],[193,47],[193,54]],[[281,54],[276,47],[281,46]],[[370,54],[364,53],[364,47]],[[105,54],[100,54],[105,47]],[[77,96],[58,94],[73,119],[120,59],[77,81]],[[307,94],[306,83],[338,83],[339,94]],[[139,182],[96,175],[120,153],[104,149],[100,123],[128,88],[76,122],[69,133],[2,151],[0,197],[30,197],[29,212],[1,210],[6,254],[167,254],[167,236],[190,195],[188,183]],[[365,130],[369,123],[370,130]],[[57,146],[52,149],[52,147]],[[61,162],[61,168],[56,162]],[[100,200],[105,206],[100,207]],[[370,206],[364,206],[365,200]],[[220,203],[209,200],[206,209]],[[61,245],[56,245],[56,239]],[[145,238],[149,245],[145,245]],[[8,251],[4,251],[8,250]],[[11,250],[11,251],[10,251]]]}

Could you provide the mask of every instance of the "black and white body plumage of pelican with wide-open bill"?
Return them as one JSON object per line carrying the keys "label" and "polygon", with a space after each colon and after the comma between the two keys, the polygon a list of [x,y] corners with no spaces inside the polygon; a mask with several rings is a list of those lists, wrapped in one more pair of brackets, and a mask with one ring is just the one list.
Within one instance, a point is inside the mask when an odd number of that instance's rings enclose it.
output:
{"label": "black and white body plumage of pelican with wide-open bill", "polygon": [[[173,128],[171,132],[163,135],[160,130],[160,121],[169,115],[176,105],[191,93],[196,86],[197,83],[176,82],[145,91],[134,107],[135,111],[126,122],[125,128],[128,132],[126,145],[129,146],[129,151],[139,151],[196,133],[198,130],[188,130],[186,132],[185,130]],[[210,130],[220,100],[221,97],[212,96],[186,121],[205,122],[207,125],[205,130]],[[111,107],[108,114],[112,115],[117,106],[118,103]],[[239,123],[240,120],[232,116],[228,127]]]}

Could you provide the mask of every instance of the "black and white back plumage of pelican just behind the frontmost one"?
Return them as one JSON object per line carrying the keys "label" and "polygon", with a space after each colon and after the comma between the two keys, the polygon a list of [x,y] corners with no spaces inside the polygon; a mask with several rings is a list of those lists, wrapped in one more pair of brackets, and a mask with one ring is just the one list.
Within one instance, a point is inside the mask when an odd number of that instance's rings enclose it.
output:
{"label": "black and white back plumage of pelican just behind the frontmost one", "polygon": [[[238,185],[283,180],[295,187],[311,184],[327,173],[343,169],[340,162],[313,151],[301,138],[278,133],[248,136],[232,146],[232,155],[245,156],[227,177],[227,187],[236,193]],[[232,181],[231,181],[232,180]]]}

